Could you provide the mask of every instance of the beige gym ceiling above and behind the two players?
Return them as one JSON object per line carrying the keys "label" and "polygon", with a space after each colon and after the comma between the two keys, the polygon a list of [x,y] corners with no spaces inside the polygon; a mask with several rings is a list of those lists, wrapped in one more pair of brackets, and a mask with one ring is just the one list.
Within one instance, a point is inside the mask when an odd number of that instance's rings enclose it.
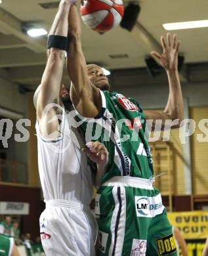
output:
{"label": "beige gym ceiling above and behind the two players", "polygon": [[[43,8],[47,4],[50,7],[51,2],[54,2],[54,8]],[[0,77],[32,90],[40,83],[47,59],[47,37],[29,37],[22,28],[33,24],[49,32],[57,11],[56,3],[52,0],[3,0],[0,4]],[[129,2],[124,3],[128,5]],[[132,32],[117,27],[100,35],[82,22],[83,51],[87,62],[100,64],[108,70],[144,68],[144,58],[150,51],[161,51],[160,35],[167,33],[162,24],[208,19],[207,0],[142,0],[138,4],[141,10]],[[204,75],[208,79],[205,64],[208,59],[208,28],[176,32],[185,63],[197,64],[198,70],[199,64],[204,66]]]}

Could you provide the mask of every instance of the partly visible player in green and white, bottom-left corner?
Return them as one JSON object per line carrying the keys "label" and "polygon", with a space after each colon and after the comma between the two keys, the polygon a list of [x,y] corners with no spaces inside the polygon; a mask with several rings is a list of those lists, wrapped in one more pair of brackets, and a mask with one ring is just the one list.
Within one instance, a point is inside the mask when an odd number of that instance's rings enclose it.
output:
{"label": "partly visible player in green and white, bottom-left corner", "polygon": [[14,238],[0,235],[0,255],[1,256],[20,256]]}

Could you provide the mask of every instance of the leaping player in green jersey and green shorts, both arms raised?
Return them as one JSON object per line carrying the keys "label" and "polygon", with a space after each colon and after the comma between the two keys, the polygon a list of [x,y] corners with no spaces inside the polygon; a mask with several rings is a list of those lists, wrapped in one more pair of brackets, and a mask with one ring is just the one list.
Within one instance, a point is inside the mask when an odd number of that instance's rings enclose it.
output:
{"label": "leaping player in green jersey and green shorts, both arms raised", "polygon": [[[144,133],[146,119],[153,119],[154,125],[161,119],[165,129],[166,125],[179,127],[183,118],[177,36],[167,34],[167,43],[161,37],[163,53],[152,53],[169,79],[167,106],[159,113],[142,112],[136,100],[110,93],[102,69],[94,64],[87,66],[75,6],[70,10],[69,33],[68,73],[72,79],[71,100],[81,119],[79,129],[87,141],[101,142],[109,152],[96,198],[96,214],[100,216],[97,255],[177,255],[161,195],[152,186],[152,156]],[[100,144],[91,150],[99,154]]]}

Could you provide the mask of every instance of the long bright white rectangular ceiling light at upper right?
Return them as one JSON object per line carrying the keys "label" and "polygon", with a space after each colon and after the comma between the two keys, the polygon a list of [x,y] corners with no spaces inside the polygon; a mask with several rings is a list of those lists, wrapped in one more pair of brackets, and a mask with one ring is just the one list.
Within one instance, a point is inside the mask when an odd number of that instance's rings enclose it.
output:
{"label": "long bright white rectangular ceiling light at upper right", "polygon": [[196,20],[191,22],[175,22],[163,24],[165,30],[186,30],[188,28],[208,27],[208,20]]}

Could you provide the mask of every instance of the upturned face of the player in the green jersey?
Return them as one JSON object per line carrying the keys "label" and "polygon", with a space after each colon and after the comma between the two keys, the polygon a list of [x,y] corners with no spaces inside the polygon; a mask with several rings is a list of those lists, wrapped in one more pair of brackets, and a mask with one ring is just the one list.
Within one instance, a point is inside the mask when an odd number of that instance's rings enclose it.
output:
{"label": "upturned face of the player in the green jersey", "polygon": [[101,91],[110,90],[108,78],[104,74],[102,68],[95,64],[89,64],[87,65],[87,74],[93,85],[96,86],[98,89],[100,89]]}

